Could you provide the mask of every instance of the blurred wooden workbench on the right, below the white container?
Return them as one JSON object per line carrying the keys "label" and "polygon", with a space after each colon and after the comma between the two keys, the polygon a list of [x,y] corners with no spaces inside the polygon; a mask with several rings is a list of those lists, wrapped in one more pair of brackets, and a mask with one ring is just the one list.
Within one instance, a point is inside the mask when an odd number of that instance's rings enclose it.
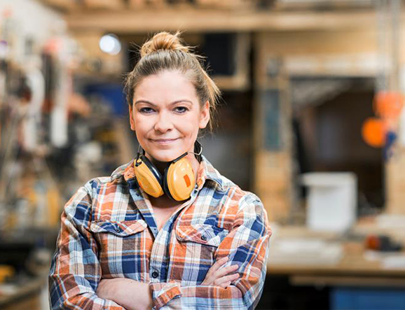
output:
{"label": "blurred wooden workbench on the right, below the white container", "polygon": [[296,286],[405,288],[405,251],[382,253],[364,246],[362,236],[367,234],[390,234],[404,241],[405,230],[389,226],[364,221],[342,235],[277,225],[270,238],[268,276],[288,276]]}

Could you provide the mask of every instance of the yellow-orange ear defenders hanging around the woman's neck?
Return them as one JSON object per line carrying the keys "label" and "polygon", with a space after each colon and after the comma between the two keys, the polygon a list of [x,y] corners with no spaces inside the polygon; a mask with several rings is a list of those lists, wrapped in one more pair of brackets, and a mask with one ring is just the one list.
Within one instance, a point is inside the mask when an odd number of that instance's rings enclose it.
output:
{"label": "yellow-orange ear defenders hanging around the woman's neck", "polygon": [[[194,150],[196,152],[194,154],[199,158],[203,148],[198,141],[195,141]],[[156,198],[166,194],[178,202],[188,199],[195,186],[195,174],[190,161],[185,157],[187,153],[172,160],[162,176],[144,152],[138,151],[134,169],[142,190]]]}

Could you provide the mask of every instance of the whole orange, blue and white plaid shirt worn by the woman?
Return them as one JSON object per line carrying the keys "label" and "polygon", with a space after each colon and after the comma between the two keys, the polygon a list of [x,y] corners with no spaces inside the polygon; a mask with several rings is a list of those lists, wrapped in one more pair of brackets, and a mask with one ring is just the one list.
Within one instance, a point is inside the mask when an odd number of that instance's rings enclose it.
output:
{"label": "whole orange, blue and white plaid shirt worn by the woman", "polygon": [[[49,274],[52,309],[124,309],[95,294],[101,279],[149,283],[153,309],[254,309],[266,276],[267,214],[203,156],[191,198],[158,230],[132,162],[95,178],[64,206]],[[216,260],[238,265],[228,288],[203,286]]]}

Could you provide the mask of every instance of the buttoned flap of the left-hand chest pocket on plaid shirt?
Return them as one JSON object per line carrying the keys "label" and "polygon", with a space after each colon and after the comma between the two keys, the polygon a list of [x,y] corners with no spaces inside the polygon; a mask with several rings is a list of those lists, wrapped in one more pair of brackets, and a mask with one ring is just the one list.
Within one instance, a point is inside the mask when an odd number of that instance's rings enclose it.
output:
{"label": "buttoned flap of the left-hand chest pocket on plaid shirt", "polygon": [[122,222],[94,222],[90,226],[92,232],[107,232],[116,236],[130,236],[142,232],[146,228],[144,220],[125,220]]}

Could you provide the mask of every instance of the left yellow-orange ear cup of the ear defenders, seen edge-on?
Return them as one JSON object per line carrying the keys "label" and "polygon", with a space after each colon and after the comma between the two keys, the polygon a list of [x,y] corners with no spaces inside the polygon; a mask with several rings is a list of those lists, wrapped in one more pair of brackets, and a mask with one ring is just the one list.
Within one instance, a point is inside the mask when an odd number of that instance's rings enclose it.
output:
{"label": "left yellow-orange ear cup of the ear defenders, seen edge-on", "polygon": [[164,194],[162,175],[146,156],[141,155],[135,160],[134,170],[139,186],[147,194],[156,198]]}

